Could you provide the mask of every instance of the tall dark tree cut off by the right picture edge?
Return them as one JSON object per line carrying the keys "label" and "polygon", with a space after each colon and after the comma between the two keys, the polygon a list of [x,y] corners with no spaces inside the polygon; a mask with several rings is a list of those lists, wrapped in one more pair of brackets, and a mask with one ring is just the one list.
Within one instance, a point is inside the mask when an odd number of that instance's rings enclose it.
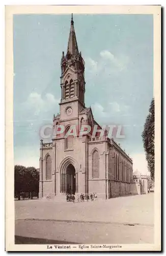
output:
{"label": "tall dark tree cut off by the right picture edge", "polygon": [[149,114],[144,124],[144,131],[142,133],[144,149],[146,153],[146,160],[148,162],[148,170],[151,179],[154,181],[154,98],[151,101]]}

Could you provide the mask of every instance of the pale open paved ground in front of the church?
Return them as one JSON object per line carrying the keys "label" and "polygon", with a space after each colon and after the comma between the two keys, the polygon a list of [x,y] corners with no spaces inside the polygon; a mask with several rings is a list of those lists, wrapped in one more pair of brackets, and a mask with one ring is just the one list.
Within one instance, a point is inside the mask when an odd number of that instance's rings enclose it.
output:
{"label": "pale open paved ground in front of the church", "polygon": [[152,194],[75,204],[15,201],[15,218],[16,243],[153,243]]}

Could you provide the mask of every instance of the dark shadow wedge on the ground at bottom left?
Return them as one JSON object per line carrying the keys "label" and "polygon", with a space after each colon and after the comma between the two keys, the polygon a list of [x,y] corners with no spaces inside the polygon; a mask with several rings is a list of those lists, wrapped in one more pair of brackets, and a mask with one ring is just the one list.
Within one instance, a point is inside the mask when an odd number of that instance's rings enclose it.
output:
{"label": "dark shadow wedge on the ground at bottom left", "polygon": [[69,241],[15,236],[15,244],[77,244]]}

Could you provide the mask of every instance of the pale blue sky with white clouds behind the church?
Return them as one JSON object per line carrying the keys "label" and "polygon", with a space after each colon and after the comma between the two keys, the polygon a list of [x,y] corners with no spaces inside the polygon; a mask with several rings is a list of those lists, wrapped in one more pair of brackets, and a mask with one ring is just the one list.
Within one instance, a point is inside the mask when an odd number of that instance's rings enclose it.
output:
{"label": "pale blue sky with white clouds behind the church", "polygon": [[[142,132],[153,98],[153,15],[73,15],[85,60],[85,104],[95,120],[123,126],[115,139],[147,173]],[[40,129],[59,113],[62,51],[71,15],[13,17],[14,162],[39,168]]]}

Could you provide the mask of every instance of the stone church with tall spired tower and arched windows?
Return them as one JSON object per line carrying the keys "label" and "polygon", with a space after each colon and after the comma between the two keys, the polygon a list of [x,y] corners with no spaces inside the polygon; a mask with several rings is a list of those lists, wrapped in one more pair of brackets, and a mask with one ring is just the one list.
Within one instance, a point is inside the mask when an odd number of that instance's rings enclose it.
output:
{"label": "stone church with tall spired tower and arched windows", "polygon": [[[78,51],[72,17],[67,52],[61,59],[60,114],[53,115],[57,136],[40,144],[39,198],[97,193],[98,198],[109,199],[130,194],[132,159],[107,132],[99,133],[101,126],[85,106],[85,88],[85,62]],[[92,129],[79,136],[82,125]],[[98,130],[92,136],[95,126]],[[59,133],[62,127],[64,131]]]}

